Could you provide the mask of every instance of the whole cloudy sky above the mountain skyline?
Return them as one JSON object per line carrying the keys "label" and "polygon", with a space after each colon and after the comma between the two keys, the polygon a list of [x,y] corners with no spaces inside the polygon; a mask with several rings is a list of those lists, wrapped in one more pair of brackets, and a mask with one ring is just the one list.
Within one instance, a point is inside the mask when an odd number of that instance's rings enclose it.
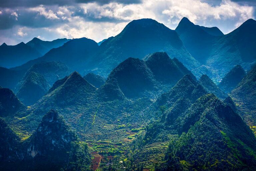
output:
{"label": "whole cloudy sky above the mountain skyline", "polygon": [[256,0],[0,0],[0,44],[34,37],[99,42],[132,20],[152,18],[175,29],[183,17],[227,34],[256,16]]}

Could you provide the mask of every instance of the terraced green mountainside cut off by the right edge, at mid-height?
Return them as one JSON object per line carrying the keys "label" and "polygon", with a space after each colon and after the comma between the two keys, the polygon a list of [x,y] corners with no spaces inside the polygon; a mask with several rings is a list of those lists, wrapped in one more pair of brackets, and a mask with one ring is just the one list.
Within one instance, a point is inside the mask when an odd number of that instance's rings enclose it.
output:
{"label": "terraced green mountainside cut off by the right edge, at mid-height", "polygon": [[248,125],[256,124],[256,66],[233,89],[230,96],[236,103],[239,111]]}

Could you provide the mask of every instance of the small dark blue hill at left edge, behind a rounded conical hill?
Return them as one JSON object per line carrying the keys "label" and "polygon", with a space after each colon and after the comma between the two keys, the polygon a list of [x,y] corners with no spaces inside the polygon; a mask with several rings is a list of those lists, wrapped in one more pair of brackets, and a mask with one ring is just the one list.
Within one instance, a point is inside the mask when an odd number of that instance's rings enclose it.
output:
{"label": "small dark blue hill at left edge, behind a rounded conical hill", "polygon": [[15,89],[17,83],[22,79],[26,71],[14,71],[0,67],[0,85],[4,88]]}

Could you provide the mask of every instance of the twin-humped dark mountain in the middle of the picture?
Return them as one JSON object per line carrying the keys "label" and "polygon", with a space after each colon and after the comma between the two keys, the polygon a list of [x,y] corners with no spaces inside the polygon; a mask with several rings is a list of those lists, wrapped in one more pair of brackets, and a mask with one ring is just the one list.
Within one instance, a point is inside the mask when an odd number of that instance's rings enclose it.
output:
{"label": "twin-humped dark mountain in the middle of the picture", "polygon": [[176,58],[171,59],[165,52],[156,52],[147,55],[143,60],[126,59],[109,74],[107,80],[116,79],[121,91],[128,98],[157,98],[186,74],[196,80]]}

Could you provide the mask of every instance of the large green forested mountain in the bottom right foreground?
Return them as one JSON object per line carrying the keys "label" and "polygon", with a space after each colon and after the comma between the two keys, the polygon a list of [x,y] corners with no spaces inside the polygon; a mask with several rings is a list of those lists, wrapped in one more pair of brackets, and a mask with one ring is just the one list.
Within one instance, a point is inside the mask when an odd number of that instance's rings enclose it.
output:
{"label": "large green forested mountain in the bottom right foreground", "polygon": [[181,117],[180,136],[171,141],[160,170],[255,169],[254,134],[216,96],[202,96]]}

